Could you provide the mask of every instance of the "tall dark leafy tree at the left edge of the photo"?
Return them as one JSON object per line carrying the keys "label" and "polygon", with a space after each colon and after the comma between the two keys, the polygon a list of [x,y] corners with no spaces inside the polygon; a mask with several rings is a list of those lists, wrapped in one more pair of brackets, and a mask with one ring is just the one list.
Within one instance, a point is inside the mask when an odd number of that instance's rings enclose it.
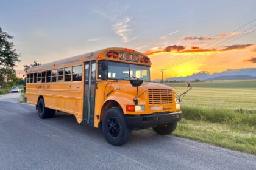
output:
{"label": "tall dark leafy tree at the left edge of the photo", "polygon": [[14,45],[10,39],[13,39],[13,36],[8,35],[0,27],[0,85],[5,88],[13,86],[18,80],[13,67],[20,61],[20,54],[13,49]]}

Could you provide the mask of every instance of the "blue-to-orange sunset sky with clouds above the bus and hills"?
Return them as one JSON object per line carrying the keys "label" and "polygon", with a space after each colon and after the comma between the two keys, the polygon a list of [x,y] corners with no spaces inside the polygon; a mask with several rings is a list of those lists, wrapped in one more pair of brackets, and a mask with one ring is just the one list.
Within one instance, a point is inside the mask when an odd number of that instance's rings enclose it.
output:
{"label": "blue-to-orange sunset sky with clouds above the bus and hills", "polygon": [[161,77],[158,69],[168,78],[256,67],[256,1],[0,1],[0,7],[0,26],[21,53],[16,70],[106,47],[146,53],[152,80]]}

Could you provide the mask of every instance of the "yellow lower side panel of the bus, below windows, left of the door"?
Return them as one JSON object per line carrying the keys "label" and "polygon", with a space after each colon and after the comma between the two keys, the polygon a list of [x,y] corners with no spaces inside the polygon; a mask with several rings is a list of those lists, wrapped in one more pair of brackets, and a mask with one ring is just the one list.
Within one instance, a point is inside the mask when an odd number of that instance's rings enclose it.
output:
{"label": "yellow lower side panel of the bus, below windows, left of the door", "polygon": [[78,123],[82,122],[83,84],[82,82],[31,83],[27,84],[27,103],[37,104],[43,96],[45,107],[73,114]]}

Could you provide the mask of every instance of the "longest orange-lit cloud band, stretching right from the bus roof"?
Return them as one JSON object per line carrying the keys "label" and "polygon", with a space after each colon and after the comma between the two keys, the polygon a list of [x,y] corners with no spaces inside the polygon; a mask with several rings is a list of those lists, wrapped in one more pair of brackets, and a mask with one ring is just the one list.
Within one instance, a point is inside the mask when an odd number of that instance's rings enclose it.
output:
{"label": "longest orange-lit cloud band, stretching right from the bus roof", "polygon": [[144,52],[145,55],[152,56],[159,53],[198,53],[198,52],[227,52],[231,50],[241,50],[246,47],[253,46],[254,44],[235,44],[232,46],[225,46],[224,49],[200,49],[199,47],[192,46],[191,49],[186,49],[186,46],[167,46],[155,47]]}

